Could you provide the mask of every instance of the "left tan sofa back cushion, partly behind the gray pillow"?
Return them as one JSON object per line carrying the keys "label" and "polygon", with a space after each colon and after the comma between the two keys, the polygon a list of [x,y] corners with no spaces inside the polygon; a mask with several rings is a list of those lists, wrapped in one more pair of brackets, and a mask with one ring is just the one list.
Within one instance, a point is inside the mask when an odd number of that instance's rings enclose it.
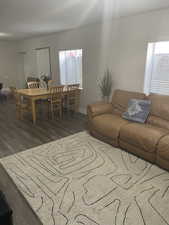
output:
{"label": "left tan sofa back cushion, partly behind the gray pillow", "polygon": [[122,115],[127,110],[130,99],[145,99],[145,94],[124,90],[115,90],[112,97],[113,113]]}

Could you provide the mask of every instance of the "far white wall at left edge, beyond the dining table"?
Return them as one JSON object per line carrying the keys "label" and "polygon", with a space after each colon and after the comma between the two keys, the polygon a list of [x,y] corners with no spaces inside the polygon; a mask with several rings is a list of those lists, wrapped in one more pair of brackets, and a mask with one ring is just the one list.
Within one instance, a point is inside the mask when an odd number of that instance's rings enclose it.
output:
{"label": "far white wall at left edge, beyond the dining table", "polygon": [[18,42],[0,41],[0,82],[4,87],[23,85],[23,62]]}

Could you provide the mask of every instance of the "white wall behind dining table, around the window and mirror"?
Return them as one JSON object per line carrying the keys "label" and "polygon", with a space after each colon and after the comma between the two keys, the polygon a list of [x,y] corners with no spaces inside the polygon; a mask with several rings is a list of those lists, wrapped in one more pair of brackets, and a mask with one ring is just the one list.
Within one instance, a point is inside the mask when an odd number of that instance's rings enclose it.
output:
{"label": "white wall behind dining table, around the window and mirror", "polygon": [[[103,74],[105,55],[102,39],[102,25],[89,25],[76,30],[60,32],[55,35],[44,36],[25,40],[22,43],[21,50],[26,52],[28,57],[27,68],[30,74],[37,73],[36,61],[33,60],[35,48],[51,48],[51,69],[53,79],[59,83],[59,50],[64,49],[83,49],[83,92],[81,94],[81,111],[86,110],[86,105],[100,99],[100,93],[97,87],[97,79]],[[114,36],[111,34],[111,44],[114,43]],[[102,44],[103,43],[103,44]],[[106,52],[106,51],[105,51]],[[32,60],[30,59],[32,58]],[[28,70],[27,70],[28,71]]]}

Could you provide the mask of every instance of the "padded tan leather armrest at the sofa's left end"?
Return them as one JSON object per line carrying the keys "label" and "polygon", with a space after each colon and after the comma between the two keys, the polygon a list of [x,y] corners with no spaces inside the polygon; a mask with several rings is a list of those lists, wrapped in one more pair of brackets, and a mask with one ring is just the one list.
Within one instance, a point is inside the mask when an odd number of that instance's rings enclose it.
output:
{"label": "padded tan leather armrest at the sofa's left end", "polygon": [[112,113],[111,103],[97,102],[87,106],[87,115],[89,119],[105,113]]}

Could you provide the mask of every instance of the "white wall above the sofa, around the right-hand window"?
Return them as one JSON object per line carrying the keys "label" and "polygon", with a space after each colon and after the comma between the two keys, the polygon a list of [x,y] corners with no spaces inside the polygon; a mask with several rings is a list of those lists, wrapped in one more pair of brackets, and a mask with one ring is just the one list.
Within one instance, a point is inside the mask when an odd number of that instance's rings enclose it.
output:
{"label": "white wall above the sofa, around the right-hand window", "polygon": [[143,91],[147,45],[169,40],[168,21],[169,9],[119,20],[114,65],[117,88]]}

